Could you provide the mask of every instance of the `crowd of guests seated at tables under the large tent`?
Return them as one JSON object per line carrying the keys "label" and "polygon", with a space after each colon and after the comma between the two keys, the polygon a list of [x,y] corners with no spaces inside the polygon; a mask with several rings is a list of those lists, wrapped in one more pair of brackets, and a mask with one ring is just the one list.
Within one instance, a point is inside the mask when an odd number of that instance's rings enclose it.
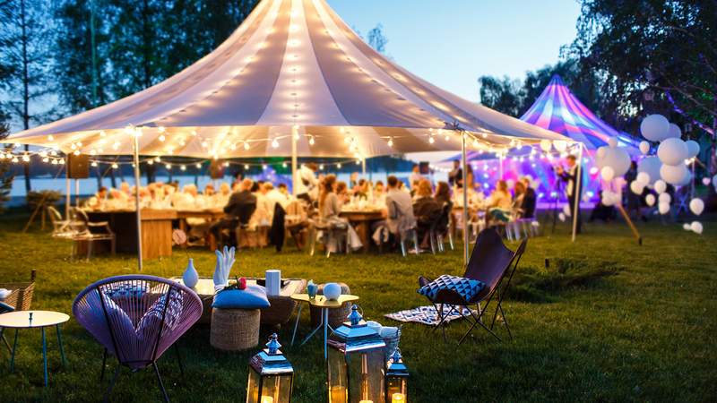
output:
{"label": "crowd of guests seated at tables under the large tent", "polygon": [[[436,184],[420,173],[418,165],[413,168],[408,183],[397,176],[388,176],[385,183],[381,180],[374,183],[359,177],[358,173],[352,174],[346,183],[334,175],[317,174],[318,167],[313,163],[300,167],[296,196],[289,193],[286,184],[274,186],[248,178],[231,185],[221,183],[218,189],[214,184],[207,184],[202,192],[194,184],[180,189],[176,183],[152,183],[140,187],[140,205],[151,209],[223,210],[222,219],[211,222],[187,219],[187,225],[190,239],[201,240],[212,235],[220,243],[228,243],[232,238],[226,234],[236,227],[271,228],[275,224],[277,206],[281,206],[283,214],[289,203],[296,201],[307,211],[307,219],[313,218],[322,224],[320,239],[330,251],[358,249],[366,242],[358,238],[351,223],[342,217],[345,210],[381,212],[382,219],[371,224],[372,239],[376,243],[397,245],[407,231],[416,228],[422,247],[427,245],[432,228],[445,231],[453,208],[463,204],[463,192],[467,192],[469,208],[481,211],[481,217],[490,222],[531,218],[535,213],[536,194],[529,178],[516,181],[512,190],[500,180],[495,190],[485,195],[480,186],[467,189],[463,186],[463,173],[457,164],[447,182]],[[468,183],[472,183],[471,177]],[[97,210],[132,210],[136,194],[134,186],[123,182],[118,189],[100,188],[86,205]]]}

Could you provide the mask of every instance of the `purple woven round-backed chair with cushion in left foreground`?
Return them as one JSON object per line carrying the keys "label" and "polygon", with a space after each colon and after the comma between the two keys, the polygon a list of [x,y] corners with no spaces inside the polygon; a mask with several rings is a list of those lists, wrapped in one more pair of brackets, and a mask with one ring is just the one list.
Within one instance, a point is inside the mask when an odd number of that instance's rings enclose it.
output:
{"label": "purple woven round-backed chair with cushion in left foreground", "polygon": [[[194,291],[168,279],[130,275],[99,280],[73,302],[73,315],[105,347],[100,382],[108,353],[119,365],[105,393],[109,398],[122,366],[133,373],[151,366],[162,397],[169,401],[157,360],[202,316]],[[175,346],[175,348],[177,348]],[[184,375],[177,351],[179,370]]]}

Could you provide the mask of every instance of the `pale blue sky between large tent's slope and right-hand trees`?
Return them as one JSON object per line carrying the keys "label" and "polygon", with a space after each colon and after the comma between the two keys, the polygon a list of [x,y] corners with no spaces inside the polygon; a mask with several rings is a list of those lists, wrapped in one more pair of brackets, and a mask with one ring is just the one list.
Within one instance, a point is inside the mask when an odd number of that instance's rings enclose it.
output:
{"label": "pale blue sky between large tent's slope and right-hand trees", "polygon": [[395,62],[472,101],[480,75],[523,79],[556,63],[580,14],[577,0],[327,1],[363,35],[383,24]]}

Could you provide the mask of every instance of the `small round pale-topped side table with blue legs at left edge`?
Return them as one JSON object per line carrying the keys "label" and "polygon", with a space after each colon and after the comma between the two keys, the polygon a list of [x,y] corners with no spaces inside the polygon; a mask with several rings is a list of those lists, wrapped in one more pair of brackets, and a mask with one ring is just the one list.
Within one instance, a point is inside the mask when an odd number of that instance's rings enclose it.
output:
{"label": "small round pale-topped side table with blue legs at left edge", "polygon": [[21,329],[39,329],[42,332],[42,364],[45,373],[45,386],[48,386],[48,342],[45,337],[45,328],[55,326],[57,333],[57,346],[60,349],[62,365],[65,366],[65,350],[62,345],[62,330],[60,325],[69,321],[70,316],[65,313],[52,311],[15,311],[0,314],[0,328],[15,330],[13,352],[10,357],[10,372],[15,369],[15,350],[17,349],[17,333]]}

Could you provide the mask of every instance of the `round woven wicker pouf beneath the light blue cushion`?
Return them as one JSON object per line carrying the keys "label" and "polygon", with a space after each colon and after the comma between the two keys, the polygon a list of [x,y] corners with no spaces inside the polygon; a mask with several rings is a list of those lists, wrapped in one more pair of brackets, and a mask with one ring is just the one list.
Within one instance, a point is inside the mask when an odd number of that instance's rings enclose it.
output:
{"label": "round woven wicker pouf beneath the light blue cushion", "polygon": [[241,351],[259,344],[258,309],[212,309],[209,343],[226,351]]}

